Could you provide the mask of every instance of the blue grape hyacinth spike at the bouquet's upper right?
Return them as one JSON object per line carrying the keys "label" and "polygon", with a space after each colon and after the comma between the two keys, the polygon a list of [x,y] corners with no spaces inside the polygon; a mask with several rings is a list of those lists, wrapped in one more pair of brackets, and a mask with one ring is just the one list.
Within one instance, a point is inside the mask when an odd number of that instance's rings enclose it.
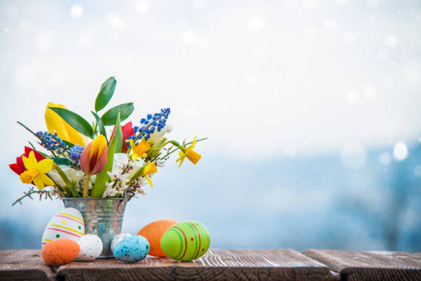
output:
{"label": "blue grape hyacinth spike at the bouquet's upper right", "polygon": [[[161,132],[161,129],[165,127],[166,119],[168,119],[169,114],[171,113],[170,108],[162,108],[161,112],[155,114],[148,114],[147,118],[142,118],[140,124],[142,127],[135,126],[133,128],[134,135],[129,136],[133,141],[144,138],[146,141],[151,137],[155,131]],[[130,147],[130,144],[127,143],[127,146]]]}

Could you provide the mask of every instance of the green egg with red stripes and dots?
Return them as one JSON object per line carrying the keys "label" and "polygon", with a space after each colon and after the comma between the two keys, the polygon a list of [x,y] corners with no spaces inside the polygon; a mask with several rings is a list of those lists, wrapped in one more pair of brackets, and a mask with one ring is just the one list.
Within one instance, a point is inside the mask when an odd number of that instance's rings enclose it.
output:
{"label": "green egg with red stripes and dots", "polygon": [[161,249],[174,260],[195,260],[208,251],[209,231],[200,222],[188,220],[170,227],[161,238]]}

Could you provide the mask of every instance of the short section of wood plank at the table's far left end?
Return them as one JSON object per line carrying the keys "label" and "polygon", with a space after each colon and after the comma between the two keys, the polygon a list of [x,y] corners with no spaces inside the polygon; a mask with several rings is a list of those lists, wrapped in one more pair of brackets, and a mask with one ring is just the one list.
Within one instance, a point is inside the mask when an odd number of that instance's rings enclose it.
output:
{"label": "short section of wood plank at the table's far left end", "polygon": [[0,250],[0,280],[50,280],[54,273],[44,264],[41,250]]}

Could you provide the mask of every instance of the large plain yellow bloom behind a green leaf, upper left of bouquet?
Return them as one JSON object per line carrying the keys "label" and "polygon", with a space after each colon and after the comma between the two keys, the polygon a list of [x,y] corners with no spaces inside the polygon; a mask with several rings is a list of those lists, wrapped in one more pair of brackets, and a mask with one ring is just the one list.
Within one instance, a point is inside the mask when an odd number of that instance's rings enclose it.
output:
{"label": "large plain yellow bloom behind a green leaf, upper left of bouquet", "polygon": [[66,121],[63,120],[56,112],[50,110],[48,107],[60,107],[66,108],[60,104],[48,103],[45,108],[45,123],[47,124],[48,132],[58,134],[58,137],[62,140],[73,143],[74,145],[87,145],[87,137],[80,134],[74,127],[70,126]]}

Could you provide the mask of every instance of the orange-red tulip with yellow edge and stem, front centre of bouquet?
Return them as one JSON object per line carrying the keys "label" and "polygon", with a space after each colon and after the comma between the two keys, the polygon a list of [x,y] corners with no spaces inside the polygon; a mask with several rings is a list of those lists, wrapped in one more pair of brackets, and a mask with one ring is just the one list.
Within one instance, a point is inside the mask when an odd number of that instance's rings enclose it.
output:
{"label": "orange-red tulip with yellow edge and stem, front centre of bouquet", "polygon": [[94,141],[91,141],[80,156],[80,169],[86,174],[85,187],[83,188],[83,197],[87,197],[89,178],[96,175],[105,167],[107,163],[107,140],[105,136],[98,135]]}

